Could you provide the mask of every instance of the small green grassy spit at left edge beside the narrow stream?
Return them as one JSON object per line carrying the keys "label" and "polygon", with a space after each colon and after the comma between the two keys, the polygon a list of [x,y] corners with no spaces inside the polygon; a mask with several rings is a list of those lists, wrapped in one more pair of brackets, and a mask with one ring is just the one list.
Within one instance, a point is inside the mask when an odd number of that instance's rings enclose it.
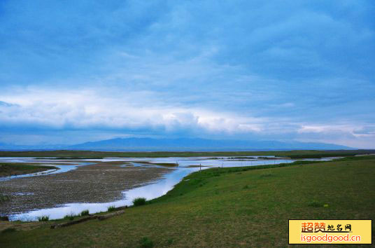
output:
{"label": "small green grassy spit at left edge beside the narrow stream", "polygon": [[57,169],[53,166],[27,165],[24,163],[0,163],[0,177],[8,177],[19,174],[43,172],[44,170]]}

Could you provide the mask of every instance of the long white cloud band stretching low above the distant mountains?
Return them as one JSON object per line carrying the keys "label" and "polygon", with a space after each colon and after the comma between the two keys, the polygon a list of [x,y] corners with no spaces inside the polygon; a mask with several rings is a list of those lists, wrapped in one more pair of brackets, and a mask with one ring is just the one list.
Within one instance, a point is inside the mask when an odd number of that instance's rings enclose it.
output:
{"label": "long white cloud band stretching low above the distant mountains", "polygon": [[[167,105],[155,92],[111,93],[104,88],[79,92],[48,88],[28,88],[17,93],[13,90],[10,95],[0,96],[16,103],[0,106],[1,129],[8,134],[24,130],[31,136],[52,131],[90,133],[90,139],[95,139],[92,133],[102,132],[96,139],[112,135],[321,141],[357,138],[355,128],[359,126],[357,123],[306,125],[290,118],[253,117],[197,106]],[[287,107],[293,106],[287,104]],[[73,140],[83,142],[85,137]]]}

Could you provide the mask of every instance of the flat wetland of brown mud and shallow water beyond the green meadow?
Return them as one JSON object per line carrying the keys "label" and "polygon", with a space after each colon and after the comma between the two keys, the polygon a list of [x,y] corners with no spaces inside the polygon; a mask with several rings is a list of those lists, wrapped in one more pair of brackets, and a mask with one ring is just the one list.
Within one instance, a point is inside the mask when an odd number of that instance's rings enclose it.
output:
{"label": "flat wetland of brown mud and shallow water beyond the green meadow", "polygon": [[[94,214],[106,211],[112,205],[132,205],[134,198],[152,200],[160,197],[188,174],[211,167],[251,167],[332,160],[339,158],[334,156],[350,156],[353,153],[366,154],[368,151],[13,152],[13,157],[0,158],[0,168],[6,168],[1,170],[3,176],[0,177],[3,198],[0,215],[8,216],[11,221],[35,221],[40,216],[61,219],[66,214],[78,214],[85,209]],[[125,157],[129,155],[134,157]],[[295,156],[299,159],[292,159]],[[17,174],[14,173],[16,171]]]}

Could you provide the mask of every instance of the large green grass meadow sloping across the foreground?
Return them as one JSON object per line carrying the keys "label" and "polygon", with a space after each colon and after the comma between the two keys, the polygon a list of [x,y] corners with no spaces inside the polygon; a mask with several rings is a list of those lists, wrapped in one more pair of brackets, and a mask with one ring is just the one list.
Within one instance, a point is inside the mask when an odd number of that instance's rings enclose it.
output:
{"label": "large green grass meadow sloping across the foreground", "polygon": [[[50,229],[49,221],[33,230],[1,233],[0,244],[285,247],[288,219],[375,219],[374,178],[375,156],[212,168],[190,174],[167,195],[120,216],[59,229]],[[374,240],[374,226],[372,230]]]}

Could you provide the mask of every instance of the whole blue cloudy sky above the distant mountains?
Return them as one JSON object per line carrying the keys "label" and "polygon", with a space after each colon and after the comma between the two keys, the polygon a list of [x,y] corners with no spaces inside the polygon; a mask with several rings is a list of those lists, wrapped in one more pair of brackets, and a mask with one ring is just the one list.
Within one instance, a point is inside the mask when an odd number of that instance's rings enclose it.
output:
{"label": "whole blue cloudy sky above the distant mountains", "polygon": [[375,2],[0,1],[0,142],[375,148]]}

